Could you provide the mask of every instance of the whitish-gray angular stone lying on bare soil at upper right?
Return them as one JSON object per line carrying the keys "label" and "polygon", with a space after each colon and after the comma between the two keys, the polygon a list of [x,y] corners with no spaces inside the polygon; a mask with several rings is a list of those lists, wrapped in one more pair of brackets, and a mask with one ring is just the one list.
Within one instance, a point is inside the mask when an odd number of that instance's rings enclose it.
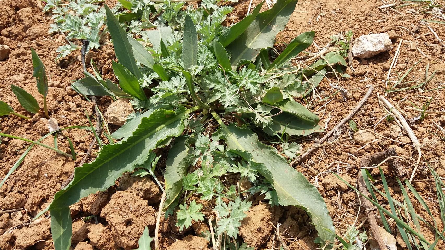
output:
{"label": "whitish-gray angular stone lying on bare soil at upper right", "polygon": [[358,58],[370,58],[381,52],[390,50],[391,39],[385,33],[363,35],[354,41],[352,54]]}

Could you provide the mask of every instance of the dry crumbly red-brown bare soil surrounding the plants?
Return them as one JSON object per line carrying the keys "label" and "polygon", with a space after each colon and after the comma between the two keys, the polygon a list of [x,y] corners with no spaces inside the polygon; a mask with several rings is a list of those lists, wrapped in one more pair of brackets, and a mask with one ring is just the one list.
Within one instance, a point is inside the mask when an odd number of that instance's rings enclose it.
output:
{"label": "dry crumbly red-brown bare soil surrounding the plants", "polygon": [[[228,19],[233,23],[242,19],[247,13],[249,5],[248,0],[242,0],[234,6],[235,11],[231,13]],[[402,1],[394,1],[396,5],[401,5]],[[252,9],[259,3],[259,0],[253,1]],[[391,2],[392,3],[392,2]],[[408,9],[420,10],[420,6],[412,5],[403,8],[397,8],[396,11],[386,8],[384,10],[378,7],[384,3],[379,0],[319,0],[308,1],[301,0],[297,4],[294,14],[291,16],[289,24],[283,32],[277,36],[276,48],[283,50],[295,36],[308,30],[315,30],[316,37],[314,41],[319,47],[324,47],[331,39],[330,37],[352,30],[354,37],[368,33],[387,32],[391,34],[393,49],[383,52],[371,60],[353,59],[352,66],[356,69],[356,75],[350,79],[340,79],[337,82],[335,77],[324,79],[320,83],[315,98],[310,97],[307,101],[311,104],[310,109],[320,116],[320,126],[326,131],[335,127],[363,98],[369,84],[376,86],[368,102],[353,117],[354,121],[363,128],[372,129],[378,135],[383,135],[389,139],[384,139],[374,134],[354,135],[348,124],[341,128],[337,133],[339,138],[331,138],[329,141],[340,141],[332,143],[326,147],[320,147],[314,151],[310,157],[296,166],[307,179],[314,183],[318,174],[333,170],[348,173],[340,174],[345,179],[350,180],[352,185],[356,184],[356,175],[360,158],[363,155],[379,152],[388,147],[396,147],[399,156],[404,157],[407,162],[402,162],[409,171],[413,171],[413,164],[416,163],[417,151],[414,147],[406,145],[411,144],[406,132],[400,130],[394,121],[386,121],[384,118],[387,113],[379,105],[377,93],[385,95],[384,90],[386,75],[388,74],[388,64],[396,52],[396,48],[403,40],[398,65],[392,69],[392,75],[403,75],[415,62],[422,59],[411,73],[406,81],[415,79],[425,79],[425,71],[429,65],[429,75],[436,71],[435,76],[426,84],[425,90],[443,87],[445,81],[445,48],[441,46],[436,37],[427,28],[427,25],[421,24],[422,18],[430,19],[431,15],[424,12],[407,13]],[[32,77],[32,61],[30,48],[34,48],[39,54],[43,63],[47,67],[47,72],[51,76],[52,87],[49,87],[48,108],[50,116],[57,120],[59,127],[69,126],[89,126],[85,112],[88,115],[93,114],[93,104],[86,101],[70,87],[73,79],[82,77],[80,52],[75,52],[65,59],[55,62],[57,52],[55,50],[64,44],[62,35],[49,35],[48,29],[51,20],[48,16],[36,7],[35,2],[30,0],[2,1],[0,7],[0,44],[11,48],[9,58],[0,61],[0,99],[11,105],[17,112],[28,114],[17,102],[12,94],[10,84],[23,87],[36,97],[43,106],[43,99],[38,94],[35,79]],[[264,5],[263,9],[267,6]],[[414,26],[420,25],[420,32],[413,33]],[[428,24],[442,39],[445,39],[445,25]],[[427,34],[429,33],[429,34]],[[425,36],[422,36],[427,34]],[[417,41],[418,50],[410,50],[410,44]],[[77,43],[80,42],[77,41]],[[310,52],[317,52],[316,46],[312,45]],[[423,53],[423,54],[422,54]],[[111,61],[115,59],[112,45],[105,44],[98,51],[92,51],[88,59],[98,64],[105,78],[113,79],[111,70]],[[348,67],[346,71],[352,75]],[[330,84],[338,84],[346,89],[347,93],[343,97],[338,93],[332,96],[337,90]],[[413,84],[413,83],[410,83]],[[408,86],[400,86],[408,87]],[[437,204],[437,195],[428,165],[435,169],[438,175],[445,177],[445,142],[444,142],[444,120],[441,118],[445,110],[443,89],[434,91],[420,92],[417,89],[411,91],[401,91],[388,93],[389,99],[405,115],[407,119],[412,119],[420,115],[419,111],[410,109],[411,103],[422,107],[422,105],[432,98],[428,107],[431,112],[423,121],[417,121],[412,125],[414,134],[420,140],[423,158],[417,169],[417,175],[414,178],[413,185],[419,191],[421,196],[427,202],[430,210],[439,222],[439,228],[442,228],[440,220],[440,210]],[[320,101],[329,97],[325,101]],[[112,102],[111,99],[99,98],[99,107],[102,113]],[[30,120],[24,120],[16,116],[0,117],[0,131],[37,140],[46,135],[49,131],[46,127],[43,117],[35,115]],[[91,116],[91,118],[93,118]],[[376,125],[378,123],[378,125]],[[439,128],[437,125],[441,126]],[[117,127],[111,127],[116,129]],[[442,129],[442,130],[441,130]],[[43,148],[34,147],[28,156],[24,159],[22,165],[9,177],[8,181],[0,189],[0,211],[20,209],[15,212],[0,214],[0,249],[53,249],[53,242],[50,234],[49,219],[41,218],[38,222],[30,224],[31,218],[40,210],[44,209],[57,190],[60,189],[69,175],[73,172],[87,151],[89,144],[93,140],[93,134],[81,129],[68,129],[63,134],[69,136],[74,143],[75,151],[78,154],[77,161],[67,159],[63,155]],[[303,149],[311,146],[321,135],[312,135],[303,141]],[[374,142],[378,146],[352,140],[361,136],[369,142]],[[103,138],[105,141],[105,137]],[[402,144],[402,143],[406,144]],[[44,139],[42,143],[53,144],[53,137]],[[69,151],[69,144],[66,137],[58,136],[59,148],[63,151]],[[29,143],[24,143],[18,139],[2,138],[0,144],[0,179],[8,173],[12,165],[17,161],[20,155],[28,147]],[[93,150],[93,155],[98,148]],[[398,187],[395,175],[383,165],[385,175],[387,175],[388,186],[392,197],[402,201],[403,196]],[[372,174],[379,179],[378,169],[372,170]],[[137,241],[145,226],[150,228],[150,236],[154,235],[154,224],[158,211],[160,200],[160,191],[157,185],[143,179],[132,179],[125,176],[125,184],[109,188],[105,192],[90,195],[83,198],[81,202],[73,205],[73,247],[76,250],[92,249],[135,249]],[[162,180],[162,178],[160,178]],[[336,233],[343,235],[346,230],[356,220],[356,225],[361,225],[360,230],[369,230],[367,222],[361,224],[366,218],[363,211],[359,212],[359,203],[357,194],[341,183],[332,174],[321,174],[318,176],[320,193],[324,197],[330,215],[334,220]],[[376,186],[383,189],[381,183]],[[411,195],[411,194],[410,194]],[[382,205],[387,207],[386,198],[377,195]],[[413,198],[413,197],[412,197]],[[150,205],[150,206],[149,206]],[[254,204],[249,216],[243,222],[240,229],[240,236],[255,249],[279,249],[280,242],[275,237],[276,226],[281,223],[279,231],[282,238],[291,250],[314,249],[313,240],[316,234],[313,227],[308,223],[308,216],[302,210],[295,208],[270,208],[263,202]],[[153,206],[153,207],[152,207]],[[429,215],[421,208],[418,202],[413,202],[417,213],[431,223]],[[388,208],[388,207],[387,207]],[[374,211],[376,216],[378,212]],[[96,215],[95,219],[83,222],[81,218]],[[357,218],[358,217],[358,218]],[[210,249],[210,244],[203,238],[196,238],[196,233],[200,226],[195,225],[193,229],[178,234],[174,226],[174,218],[167,221],[162,220],[160,226],[160,244],[161,249],[168,250],[194,250]],[[207,226],[207,225],[206,225]],[[434,234],[425,225],[422,226],[422,233],[430,242],[434,240]],[[391,225],[393,232],[396,231],[396,225]],[[208,228],[208,226],[207,226]],[[193,235],[193,237],[192,237]],[[398,247],[406,249],[406,246],[397,237]],[[437,249],[445,249],[445,243],[439,241]]]}

